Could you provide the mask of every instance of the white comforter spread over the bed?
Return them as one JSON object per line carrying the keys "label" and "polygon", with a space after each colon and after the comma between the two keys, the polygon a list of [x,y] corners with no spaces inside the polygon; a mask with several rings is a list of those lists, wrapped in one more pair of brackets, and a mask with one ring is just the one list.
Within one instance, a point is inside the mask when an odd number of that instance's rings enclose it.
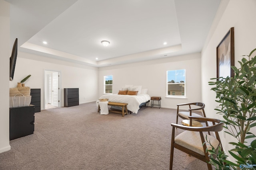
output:
{"label": "white comforter spread over the bed", "polygon": [[120,94],[112,94],[112,95],[103,95],[99,99],[108,99],[108,102],[117,102],[117,103],[128,103],[127,109],[138,113],[140,109],[140,104],[147,102],[150,100],[150,96],[148,94],[138,94],[138,95],[120,95]]}

